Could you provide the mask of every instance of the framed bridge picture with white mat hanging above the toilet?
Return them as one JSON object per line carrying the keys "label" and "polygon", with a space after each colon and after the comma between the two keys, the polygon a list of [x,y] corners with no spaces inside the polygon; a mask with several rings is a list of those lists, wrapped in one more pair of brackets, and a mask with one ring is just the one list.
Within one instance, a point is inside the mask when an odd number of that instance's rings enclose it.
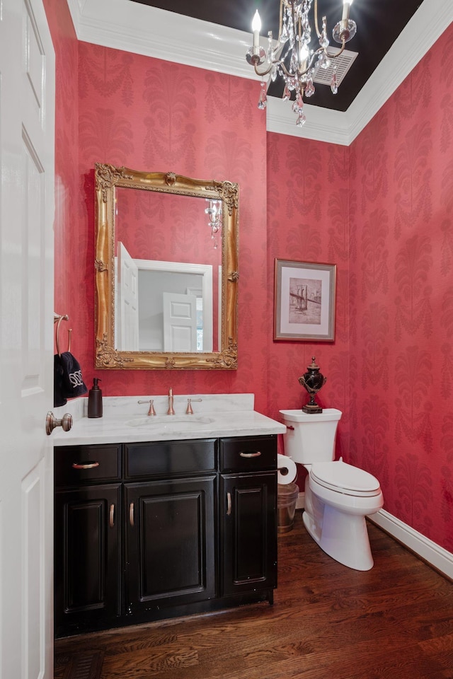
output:
{"label": "framed bridge picture with white mat hanging above the toilet", "polygon": [[275,260],[274,340],[333,342],[336,265]]}

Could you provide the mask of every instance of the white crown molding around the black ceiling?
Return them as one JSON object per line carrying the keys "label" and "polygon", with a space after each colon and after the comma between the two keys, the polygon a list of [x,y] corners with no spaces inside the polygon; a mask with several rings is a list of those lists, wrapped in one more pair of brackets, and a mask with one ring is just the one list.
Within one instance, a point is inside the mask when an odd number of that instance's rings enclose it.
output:
{"label": "white crown molding around the black ceiling", "polygon": [[[245,59],[251,33],[129,0],[67,1],[78,40],[260,80]],[[297,127],[291,106],[269,97],[268,132],[348,146],[452,21],[452,2],[425,0],[348,111],[306,104],[306,123],[304,127]],[[256,99],[258,101],[258,88]]]}

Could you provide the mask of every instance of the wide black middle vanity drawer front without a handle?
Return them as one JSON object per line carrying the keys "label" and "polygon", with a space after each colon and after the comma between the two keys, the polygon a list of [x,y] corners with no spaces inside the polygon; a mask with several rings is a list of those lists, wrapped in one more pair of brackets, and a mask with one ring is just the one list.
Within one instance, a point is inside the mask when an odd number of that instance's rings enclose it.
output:
{"label": "wide black middle vanity drawer front without a handle", "polygon": [[212,472],[216,465],[217,439],[156,441],[125,444],[125,475],[171,477]]}

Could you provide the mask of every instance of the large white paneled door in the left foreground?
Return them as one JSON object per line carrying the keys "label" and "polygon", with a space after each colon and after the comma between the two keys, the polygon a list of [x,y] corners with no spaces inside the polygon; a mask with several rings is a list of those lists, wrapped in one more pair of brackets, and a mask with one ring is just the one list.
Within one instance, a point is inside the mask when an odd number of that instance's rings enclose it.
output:
{"label": "large white paneled door in the left foreground", "polygon": [[42,0],[1,0],[1,679],[53,675],[54,108]]}

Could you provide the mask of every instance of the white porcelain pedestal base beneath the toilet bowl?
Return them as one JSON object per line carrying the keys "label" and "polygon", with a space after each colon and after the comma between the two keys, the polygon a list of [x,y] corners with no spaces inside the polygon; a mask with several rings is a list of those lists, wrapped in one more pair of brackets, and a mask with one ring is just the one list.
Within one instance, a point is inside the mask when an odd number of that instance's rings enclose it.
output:
{"label": "white porcelain pedestal base beneath the toilet bowl", "polygon": [[302,518],[311,538],[329,557],[356,571],[372,569],[374,561],[365,516],[345,515],[324,505],[321,528],[308,511],[304,511]]}

